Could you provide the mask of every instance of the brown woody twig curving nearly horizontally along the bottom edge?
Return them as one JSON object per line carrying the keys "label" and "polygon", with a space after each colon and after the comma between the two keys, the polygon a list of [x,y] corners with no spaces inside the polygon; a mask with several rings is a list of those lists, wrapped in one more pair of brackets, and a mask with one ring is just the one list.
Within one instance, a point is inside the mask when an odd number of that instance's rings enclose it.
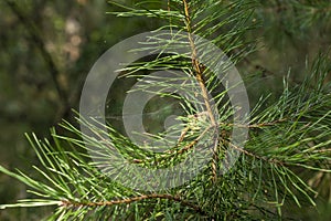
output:
{"label": "brown woody twig curving nearly horizontally along the bottom edge", "polygon": [[199,212],[200,214],[205,215],[206,212],[204,212],[199,206],[194,204],[193,202],[186,201],[181,199],[180,197],[172,196],[172,194],[159,194],[159,193],[152,193],[152,194],[142,194],[139,197],[132,197],[128,199],[122,200],[110,200],[110,201],[99,201],[99,202],[74,202],[70,200],[63,200],[62,207],[103,207],[103,206],[116,206],[116,204],[129,204],[132,202],[141,201],[141,200],[149,200],[149,199],[167,199],[172,200],[175,202],[180,202],[184,207],[189,207],[195,212]]}

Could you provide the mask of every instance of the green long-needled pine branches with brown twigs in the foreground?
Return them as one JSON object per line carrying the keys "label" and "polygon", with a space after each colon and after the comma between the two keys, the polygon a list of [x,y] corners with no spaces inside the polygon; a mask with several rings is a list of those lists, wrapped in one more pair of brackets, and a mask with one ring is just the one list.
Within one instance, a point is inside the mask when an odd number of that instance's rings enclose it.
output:
{"label": "green long-needled pine branches with brown twigs in the foreground", "polygon": [[[40,173],[39,178],[32,178],[21,170],[12,172],[0,166],[0,171],[29,186],[29,191],[34,196],[14,204],[1,206],[1,209],[53,206],[54,213],[49,220],[271,220],[290,217],[284,212],[284,207],[288,204],[316,206],[318,192],[303,172],[325,175],[325,179],[331,172],[331,94],[330,84],[325,83],[331,71],[329,54],[321,53],[311,67],[307,67],[307,77],[302,84],[291,85],[289,76],[286,76],[278,101],[261,97],[247,116],[248,124],[237,125],[233,120],[234,109],[226,97],[227,91],[224,91],[215,73],[195,60],[194,50],[200,49],[194,49],[190,34],[207,39],[236,64],[256,50],[254,45],[257,40],[246,36],[247,32],[257,28],[259,21],[256,18],[261,15],[264,7],[306,11],[301,17],[296,17],[298,21],[293,20],[293,23],[288,24],[298,27],[300,23],[298,28],[303,28],[322,18],[316,11],[321,11],[323,19],[324,15],[330,17],[330,1],[285,3],[275,0],[267,3],[253,0],[151,0],[131,4],[110,3],[120,11],[109,12],[110,14],[159,19],[163,25],[158,31],[182,31],[182,41],[179,41],[181,38],[175,38],[168,45],[191,43],[192,50],[189,55],[160,53],[152,60],[137,61],[121,70],[125,73],[122,77],[139,78],[145,76],[141,73],[180,70],[180,77],[194,76],[202,83],[197,87],[200,91],[192,87],[190,82],[183,85],[185,90],[193,95],[197,93],[203,96],[204,88],[213,94],[217,118],[213,119],[209,113],[199,117],[201,113],[192,103],[197,106],[206,104],[194,96],[180,98],[164,92],[164,88],[177,86],[171,80],[167,81],[162,76],[145,78],[146,84],[141,84],[138,91],[152,92],[149,91],[150,87],[159,83],[163,90],[152,93],[177,98],[181,104],[181,123],[173,126],[172,133],[183,134],[183,128],[186,130],[177,145],[166,147],[167,151],[154,152],[151,146],[140,147],[134,144],[117,131],[111,122],[99,125],[97,120],[93,123],[78,116],[77,120],[94,135],[89,136],[64,120],[62,127],[72,136],[58,135],[54,129],[51,130],[53,140],[41,140],[34,134],[26,135],[41,162],[41,166],[33,166]],[[158,51],[159,44],[153,44],[153,41],[167,43],[169,39],[164,40],[160,35],[160,39],[142,44],[139,50],[152,48]],[[209,54],[207,49],[205,50]],[[218,59],[212,57],[215,62]],[[235,127],[249,129],[244,148],[234,145],[228,137]],[[194,145],[212,133],[220,134],[213,159],[197,176],[179,187],[162,190],[149,188],[142,191],[110,178],[115,171],[107,169],[108,165],[118,168],[121,166],[116,162],[110,144],[103,137],[109,138],[116,151],[131,164],[143,168],[168,168],[185,160],[194,151]],[[141,136],[164,141],[162,133]],[[234,168],[220,175],[220,168],[226,167],[223,159],[227,149],[235,149],[241,156]],[[88,152],[92,150],[97,151],[99,160],[90,159]]]}

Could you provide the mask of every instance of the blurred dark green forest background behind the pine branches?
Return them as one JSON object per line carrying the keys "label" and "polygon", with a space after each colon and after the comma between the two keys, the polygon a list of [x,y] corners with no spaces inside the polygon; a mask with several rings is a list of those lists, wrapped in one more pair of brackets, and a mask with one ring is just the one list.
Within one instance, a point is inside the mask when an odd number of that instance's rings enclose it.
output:
{"label": "blurred dark green forest background behind the pine branches", "polygon": [[[49,128],[62,118],[74,123],[71,109],[77,109],[94,62],[115,43],[153,30],[160,21],[115,18],[106,12],[116,8],[104,0],[4,0],[0,10],[0,164],[32,173],[38,160],[24,133],[49,137]],[[289,70],[290,81],[300,83],[306,66],[331,41],[330,22],[296,27],[291,14],[278,13],[273,6],[261,6],[256,12],[259,19],[263,25],[246,36],[260,39],[258,51],[237,65],[243,75],[255,76],[246,82],[252,105],[269,93],[273,102]],[[117,94],[109,104],[115,109],[121,106],[122,88],[120,84],[113,88]],[[331,218],[330,189],[327,183],[321,193],[320,219]],[[0,204],[26,197],[23,185],[0,175]],[[0,211],[0,220],[40,220],[49,212],[52,208],[9,209]],[[316,210],[298,213],[305,220],[317,218]]]}

